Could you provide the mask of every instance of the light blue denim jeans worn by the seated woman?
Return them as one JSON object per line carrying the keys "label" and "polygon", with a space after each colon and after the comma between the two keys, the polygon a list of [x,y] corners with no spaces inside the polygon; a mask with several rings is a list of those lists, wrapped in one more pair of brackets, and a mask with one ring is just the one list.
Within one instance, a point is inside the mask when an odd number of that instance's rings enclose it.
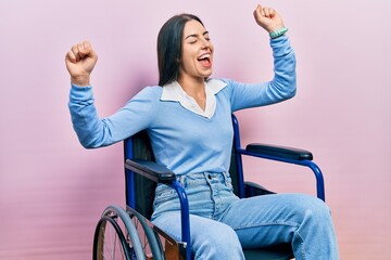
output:
{"label": "light blue denim jeans worn by the seated woman", "polygon": [[[290,243],[298,260],[339,259],[329,208],[303,194],[239,199],[228,173],[189,173],[178,178],[189,199],[194,259],[244,259],[242,249]],[[176,191],[156,187],[152,221],[180,239]]]}

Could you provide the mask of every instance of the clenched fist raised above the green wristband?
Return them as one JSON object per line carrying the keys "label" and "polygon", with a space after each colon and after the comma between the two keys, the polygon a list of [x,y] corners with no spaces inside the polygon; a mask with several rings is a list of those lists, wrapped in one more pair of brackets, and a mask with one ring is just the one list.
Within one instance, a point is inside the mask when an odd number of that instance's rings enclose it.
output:
{"label": "clenched fist raised above the green wristband", "polygon": [[254,10],[255,22],[268,32],[283,28],[281,16],[273,8],[258,4]]}

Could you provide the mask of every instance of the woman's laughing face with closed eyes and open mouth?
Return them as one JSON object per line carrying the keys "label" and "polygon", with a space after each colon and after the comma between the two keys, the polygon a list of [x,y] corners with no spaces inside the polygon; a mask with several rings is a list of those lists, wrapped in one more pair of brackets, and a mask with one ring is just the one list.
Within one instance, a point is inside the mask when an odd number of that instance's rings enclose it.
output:
{"label": "woman's laughing face with closed eyes and open mouth", "polygon": [[212,75],[213,44],[209,32],[195,20],[186,23],[182,38],[182,53],[179,79],[202,79]]}

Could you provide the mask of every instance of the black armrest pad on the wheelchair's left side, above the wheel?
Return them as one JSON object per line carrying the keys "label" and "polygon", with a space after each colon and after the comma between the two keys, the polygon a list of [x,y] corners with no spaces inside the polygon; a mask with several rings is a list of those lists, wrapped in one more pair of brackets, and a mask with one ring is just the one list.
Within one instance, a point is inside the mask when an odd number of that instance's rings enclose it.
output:
{"label": "black armrest pad on the wheelchair's left side, above the wheel", "polygon": [[173,171],[151,160],[127,159],[125,168],[159,183],[172,183],[176,180]]}

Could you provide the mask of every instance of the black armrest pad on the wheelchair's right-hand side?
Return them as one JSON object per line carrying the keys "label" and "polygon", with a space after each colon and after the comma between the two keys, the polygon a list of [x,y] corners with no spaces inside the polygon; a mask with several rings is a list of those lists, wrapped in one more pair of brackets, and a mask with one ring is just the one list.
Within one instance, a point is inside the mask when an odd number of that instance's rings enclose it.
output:
{"label": "black armrest pad on the wheelchair's right-hand side", "polygon": [[313,160],[311,152],[286,146],[252,143],[245,146],[245,151],[254,154],[274,156],[293,160]]}

